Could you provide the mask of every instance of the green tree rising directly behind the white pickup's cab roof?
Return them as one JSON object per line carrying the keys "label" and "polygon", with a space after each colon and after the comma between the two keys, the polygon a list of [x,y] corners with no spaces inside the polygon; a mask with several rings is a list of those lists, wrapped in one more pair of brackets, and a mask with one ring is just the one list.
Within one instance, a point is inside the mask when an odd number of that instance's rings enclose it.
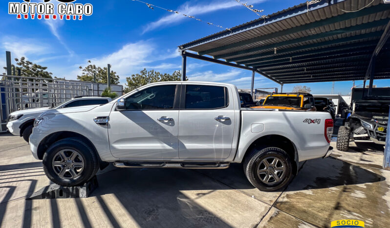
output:
{"label": "green tree rising directly behind the white pickup's cab roof", "polygon": [[124,89],[125,92],[130,92],[135,90],[141,86],[145,86],[154,82],[169,82],[169,81],[180,81],[181,80],[181,72],[180,70],[176,70],[173,74],[160,73],[158,71],[150,70],[148,71],[146,68],[141,70],[140,73],[132,74],[131,77],[126,78],[126,87]]}

